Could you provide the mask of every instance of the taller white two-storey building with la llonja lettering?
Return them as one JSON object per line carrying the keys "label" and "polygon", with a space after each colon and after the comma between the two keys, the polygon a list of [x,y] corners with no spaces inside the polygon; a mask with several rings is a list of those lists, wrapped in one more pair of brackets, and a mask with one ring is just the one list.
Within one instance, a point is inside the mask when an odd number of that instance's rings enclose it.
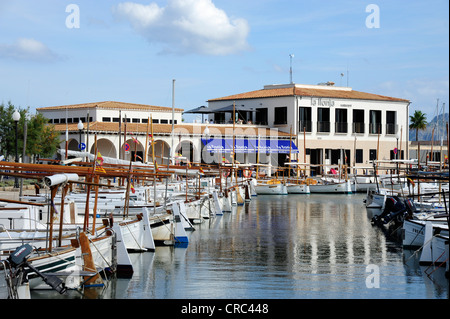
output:
{"label": "taller white two-storey building with la llonja lettering", "polygon": [[[244,123],[292,132],[299,149],[298,162],[367,167],[374,159],[408,154],[410,102],[405,99],[326,83],[267,85],[208,103],[209,117],[216,123],[228,122],[232,116],[229,109],[234,106]],[[279,163],[286,160],[283,156]],[[317,166],[313,173],[321,170]]]}

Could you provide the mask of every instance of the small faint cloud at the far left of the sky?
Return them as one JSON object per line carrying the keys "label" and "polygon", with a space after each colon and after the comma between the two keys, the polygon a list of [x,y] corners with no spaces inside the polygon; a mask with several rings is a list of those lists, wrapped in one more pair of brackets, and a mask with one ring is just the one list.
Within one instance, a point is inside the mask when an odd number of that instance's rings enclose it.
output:
{"label": "small faint cloud at the far left of the sky", "polygon": [[20,61],[53,62],[59,56],[35,39],[20,38],[13,44],[0,44],[0,58]]}

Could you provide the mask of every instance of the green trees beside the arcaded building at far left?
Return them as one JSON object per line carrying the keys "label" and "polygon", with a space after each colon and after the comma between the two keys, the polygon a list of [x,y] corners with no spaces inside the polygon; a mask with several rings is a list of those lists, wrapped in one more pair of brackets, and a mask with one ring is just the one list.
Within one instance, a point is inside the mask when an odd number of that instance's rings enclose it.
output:
{"label": "green trees beside the arcaded building at far left", "polygon": [[[13,120],[15,110],[20,113],[17,140],[16,123]],[[53,157],[61,143],[60,136],[54,126],[48,123],[48,119],[39,113],[31,114],[29,107],[17,108],[11,102],[0,104],[0,155],[4,156],[5,160],[15,160],[16,143],[19,158],[23,157],[24,153],[32,162],[36,162],[38,158]]]}

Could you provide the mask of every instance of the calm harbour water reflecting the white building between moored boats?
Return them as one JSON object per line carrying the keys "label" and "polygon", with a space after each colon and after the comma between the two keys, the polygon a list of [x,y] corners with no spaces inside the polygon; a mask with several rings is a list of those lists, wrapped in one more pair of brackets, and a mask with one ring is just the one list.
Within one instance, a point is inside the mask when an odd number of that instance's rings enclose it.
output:
{"label": "calm harbour water reflecting the white building between moored boats", "polygon": [[254,197],[196,225],[187,248],[132,254],[133,277],[112,280],[93,297],[447,299],[444,271],[429,278],[432,270],[371,225],[363,198]]}

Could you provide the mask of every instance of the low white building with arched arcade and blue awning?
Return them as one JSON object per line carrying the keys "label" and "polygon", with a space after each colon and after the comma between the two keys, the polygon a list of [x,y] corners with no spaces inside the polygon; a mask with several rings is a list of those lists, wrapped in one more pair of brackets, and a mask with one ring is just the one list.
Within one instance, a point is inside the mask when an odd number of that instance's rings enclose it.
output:
{"label": "low white building with arched arcade and blue awning", "polygon": [[[154,155],[157,163],[166,164],[171,156],[181,154],[194,163],[219,163],[223,157],[231,159],[233,136],[236,159],[240,162],[256,161],[258,137],[269,142],[266,137],[272,138],[270,143],[264,143],[261,162],[272,163],[272,154],[295,152],[294,145],[289,147],[290,137],[286,133],[255,125],[181,124],[183,110],[179,108],[172,112],[170,107],[109,101],[43,107],[37,111],[61,132],[62,150],[95,154],[97,147],[104,157],[151,162]],[[154,152],[149,137],[152,130]],[[220,142],[221,151],[217,151],[218,144],[214,151],[208,151],[206,141],[210,146],[214,141]]]}

